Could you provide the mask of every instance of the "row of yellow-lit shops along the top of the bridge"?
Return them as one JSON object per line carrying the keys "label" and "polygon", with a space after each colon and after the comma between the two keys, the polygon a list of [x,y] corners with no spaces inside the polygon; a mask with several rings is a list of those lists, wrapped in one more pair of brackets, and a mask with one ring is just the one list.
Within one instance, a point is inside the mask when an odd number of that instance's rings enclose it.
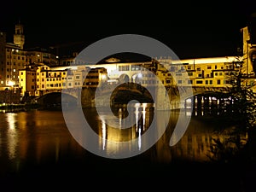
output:
{"label": "row of yellow-lit shops along the top of the bridge", "polygon": [[[193,86],[221,88],[230,86],[232,72],[241,70],[241,62],[233,57],[208,58],[197,61],[160,61],[106,63],[73,67],[48,67],[33,64],[19,71],[21,96],[42,96],[49,91],[91,87],[103,84],[137,83],[143,86]],[[254,84],[255,79],[247,79]]]}

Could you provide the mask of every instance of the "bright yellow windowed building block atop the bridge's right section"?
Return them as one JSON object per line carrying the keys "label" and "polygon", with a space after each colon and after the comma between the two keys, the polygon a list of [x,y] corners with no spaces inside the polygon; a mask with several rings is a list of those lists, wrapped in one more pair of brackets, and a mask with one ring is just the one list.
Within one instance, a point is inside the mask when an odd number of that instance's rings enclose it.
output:
{"label": "bright yellow windowed building block atop the bridge's right section", "polygon": [[[159,59],[158,61],[163,63],[166,68],[165,70],[160,68],[160,72],[157,72],[162,81],[168,77],[172,79],[173,84],[179,86],[226,87],[230,84],[231,73],[236,70],[237,57],[227,56],[180,61]],[[241,61],[241,58],[238,61]],[[164,75],[165,73],[166,75]]]}

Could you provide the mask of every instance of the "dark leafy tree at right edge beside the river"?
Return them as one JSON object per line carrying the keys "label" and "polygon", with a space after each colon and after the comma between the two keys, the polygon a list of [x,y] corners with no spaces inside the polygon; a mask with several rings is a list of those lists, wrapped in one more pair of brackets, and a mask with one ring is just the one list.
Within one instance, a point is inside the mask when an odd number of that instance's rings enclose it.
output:
{"label": "dark leafy tree at right edge beside the river", "polygon": [[[237,70],[230,75],[229,96],[232,103],[227,110],[229,119],[234,123],[226,131],[223,140],[213,138],[209,158],[218,162],[252,160],[256,150],[256,93],[251,79],[242,73],[242,62],[234,62]],[[226,117],[227,115],[225,115]],[[242,137],[245,136],[245,137]]]}

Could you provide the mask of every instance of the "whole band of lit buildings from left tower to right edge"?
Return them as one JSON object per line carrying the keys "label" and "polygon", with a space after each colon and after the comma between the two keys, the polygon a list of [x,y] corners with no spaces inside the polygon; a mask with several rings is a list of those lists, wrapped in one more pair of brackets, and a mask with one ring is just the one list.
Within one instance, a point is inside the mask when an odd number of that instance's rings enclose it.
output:
{"label": "whole band of lit buildings from left tower to right edge", "polygon": [[14,43],[7,43],[6,33],[0,32],[0,89],[19,87],[21,96],[42,96],[49,91],[96,88],[115,82],[225,88],[230,86],[230,76],[236,70],[247,76],[247,84],[255,84],[255,44],[250,43],[247,27],[241,32],[241,56],[181,61],[168,57],[140,62],[120,62],[111,58],[106,63],[85,65],[78,60],[78,53],[59,58],[47,49],[24,49],[24,29],[19,23],[15,25]]}

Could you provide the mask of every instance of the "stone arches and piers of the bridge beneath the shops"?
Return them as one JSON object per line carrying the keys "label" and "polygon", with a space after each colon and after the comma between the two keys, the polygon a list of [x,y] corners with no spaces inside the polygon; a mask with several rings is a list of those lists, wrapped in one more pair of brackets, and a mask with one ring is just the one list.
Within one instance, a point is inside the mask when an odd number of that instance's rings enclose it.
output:
{"label": "stone arches and piers of the bridge beneath the shops", "polygon": [[[185,87],[170,86],[154,88],[154,96],[147,88],[140,84],[125,84],[114,87],[106,85],[99,88],[73,88],[59,91],[51,91],[44,96],[38,97],[38,103],[42,105],[76,105],[83,108],[96,106],[106,107],[109,105],[119,105],[131,100],[138,102],[152,102],[156,104],[159,110],[185,108],[188,100],[194,100],[195,96],[209,93],[225,93],[228,89],[225,87]],[[153,99],[155,98],[155,100]],[[193,103],[192,103],[193,104]]]}

